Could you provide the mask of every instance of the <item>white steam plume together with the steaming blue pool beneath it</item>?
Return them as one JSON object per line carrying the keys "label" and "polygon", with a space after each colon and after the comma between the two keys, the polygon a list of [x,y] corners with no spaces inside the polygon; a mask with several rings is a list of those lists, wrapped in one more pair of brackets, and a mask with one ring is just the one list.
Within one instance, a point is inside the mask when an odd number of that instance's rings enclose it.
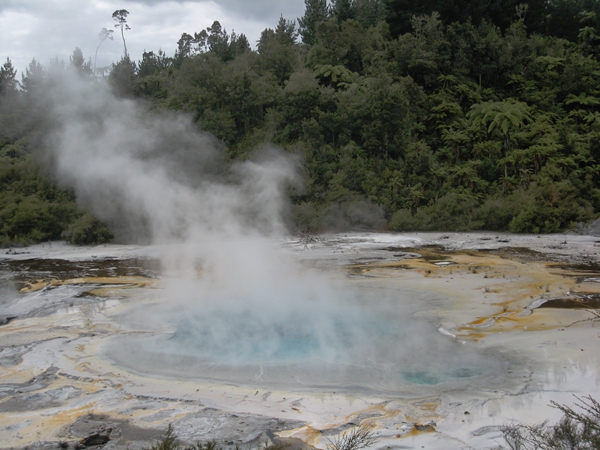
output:
{"label": "white steam plume together with the steaming blue pool beneath it", "polygon": [[189,117],[150,112],[77,79],[59,83],[51,104],[57,178],[121,236],[163,249],[167,299],[128,320],[166,323],[169,333],[120,341],[114,359],[220,380],[377,389],[432,364],[455,378],[476,374],[460,372],[472,355],[406,320],[409,299],[351,292],[278,250],[287,189],[301,185],[293,155],[267,148],[228,164]]}

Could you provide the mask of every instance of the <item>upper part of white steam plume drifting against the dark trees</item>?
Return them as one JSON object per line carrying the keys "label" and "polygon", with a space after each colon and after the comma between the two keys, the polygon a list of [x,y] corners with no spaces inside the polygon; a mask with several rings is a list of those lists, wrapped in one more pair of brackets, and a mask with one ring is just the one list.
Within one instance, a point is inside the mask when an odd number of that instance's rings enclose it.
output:
{"label": "upper part of white steam plume drifting against the dark trees", "polygon": [[285,232],[286,187],[300,183],[292,155],[263,149],[226,165],[217,140],[188,116],[149,112],[77,79],[52,93],[58,179],[127,237],[173,243]]}

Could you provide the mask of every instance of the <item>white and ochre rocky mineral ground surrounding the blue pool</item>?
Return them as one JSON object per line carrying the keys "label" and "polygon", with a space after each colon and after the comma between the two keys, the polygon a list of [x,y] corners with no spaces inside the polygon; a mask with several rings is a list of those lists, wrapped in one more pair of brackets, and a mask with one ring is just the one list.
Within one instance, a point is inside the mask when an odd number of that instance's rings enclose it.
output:
{"label": "white and ochre rocky mineral ground surrounding the blue pool", "polygon": [[325,448],[357,425],[371,427],[374,448],[503,448],[502,425],[555,421],[550,401],[599,397],[600,240],[592,235],[349,233],[292,237],[282,247],[349,283],[435,294],[418,317],[506,364],[480,383],[395,394],[139,373],[101,349],[132,332],[114,320],[131,302],[162,301],[156,248],[7,250],[0,448],[148,448],[169,424],[188,443],[242,448],[277,440]]}

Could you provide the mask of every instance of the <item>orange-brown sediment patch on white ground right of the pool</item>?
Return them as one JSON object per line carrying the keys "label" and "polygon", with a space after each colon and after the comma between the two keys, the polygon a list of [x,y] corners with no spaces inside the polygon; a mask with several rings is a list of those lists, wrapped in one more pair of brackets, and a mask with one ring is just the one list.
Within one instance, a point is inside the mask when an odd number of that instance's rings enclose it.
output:
{"label": "orange-brown sediment patch on white ground right of the pool", "polygon": [[[434,246],[403,251],[404,259],[354,264],[348,270],[368,272],[371,277],[402,278],[398,269],[404,269],[411,277],[418,273],[430,280],[460,278],[463,289],[479,290],[482,300],[488,298],[496,306],[496,311],[472,319],[465,311],[467,321],[455,330],[461,337],[479,340],[511,330],[560,328],[572,323],[571,319],[552,313],[553,309],[600,308],[600,283],[596,280],[596,276],[600,279],[600,266],[596,264],[557,263],[527,248],[445,251]],[[454,281],[451,289],[456,289],[456,284]],[[536,301],[539,304],[532,308]]]}

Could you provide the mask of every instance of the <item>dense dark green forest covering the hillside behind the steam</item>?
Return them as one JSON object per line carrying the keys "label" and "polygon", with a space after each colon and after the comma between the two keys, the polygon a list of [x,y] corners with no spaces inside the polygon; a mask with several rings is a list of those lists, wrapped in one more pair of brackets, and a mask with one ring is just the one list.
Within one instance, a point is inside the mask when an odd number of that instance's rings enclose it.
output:
{"label": "dense dark green forest covering the hillside behind the steam", "polygon": [[232,161],[265,143],[299,155],[294,232],[552,233],[599,216],[600,1],[305,5],[255,49],[215,20],[183,32],[173,55],[133,61],[125,46],[105,73],[78,48],[68,63],[34,59],[21,80],[7,59],[0,245],[112,238],[41,163],[49,125],[35,97],[67,70],[190,115]]}

